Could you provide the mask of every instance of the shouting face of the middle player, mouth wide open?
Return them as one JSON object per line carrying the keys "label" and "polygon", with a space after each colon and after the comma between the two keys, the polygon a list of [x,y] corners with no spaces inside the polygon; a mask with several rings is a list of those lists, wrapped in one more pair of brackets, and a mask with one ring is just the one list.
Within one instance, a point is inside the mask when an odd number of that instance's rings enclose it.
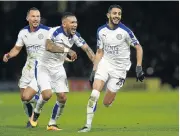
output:
{"label": "shouting face of the middle player, mouth wide open", "polygon": [[77,29],[77,19],[75,16],[67,17],[67,21],[65,24],[66,30],[68,34],[74,35]]}

